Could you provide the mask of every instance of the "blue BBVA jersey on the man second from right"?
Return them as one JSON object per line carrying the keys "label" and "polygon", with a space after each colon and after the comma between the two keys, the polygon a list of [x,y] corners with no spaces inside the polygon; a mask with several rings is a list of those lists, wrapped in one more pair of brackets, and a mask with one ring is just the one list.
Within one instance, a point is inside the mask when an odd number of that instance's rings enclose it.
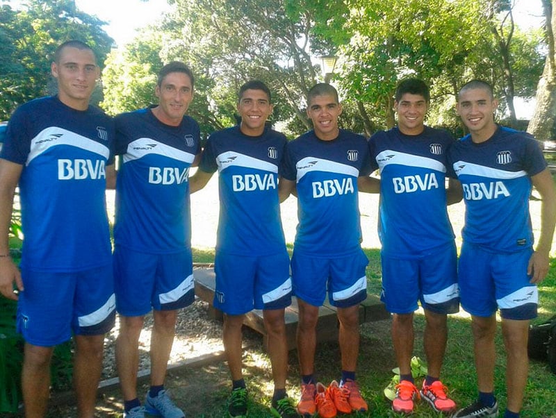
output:
{"label": "blue BBVA jersey on the man second from right", "polygon": [[369,140],[380,170],[379,238],[387,256],[414,258],[454,240],[446,209],[446,151],[453,138],[429,128],[404,135],[395,127]]}

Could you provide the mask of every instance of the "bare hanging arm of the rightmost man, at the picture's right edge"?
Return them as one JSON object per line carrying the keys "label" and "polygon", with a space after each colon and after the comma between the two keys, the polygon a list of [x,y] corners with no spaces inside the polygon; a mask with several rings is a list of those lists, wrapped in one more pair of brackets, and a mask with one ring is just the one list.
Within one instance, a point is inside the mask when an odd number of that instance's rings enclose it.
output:
{"label": "bare hanging arm of the rightmost man, at the picture's right edge", "polygon": [[550,247],[556,224],[556,191],[548,168],[531,177],[534,187],[541,195],[541,235],[537,248],[529,260],[528,274],[532,274],[531,283],[539,283],[548,274]]}

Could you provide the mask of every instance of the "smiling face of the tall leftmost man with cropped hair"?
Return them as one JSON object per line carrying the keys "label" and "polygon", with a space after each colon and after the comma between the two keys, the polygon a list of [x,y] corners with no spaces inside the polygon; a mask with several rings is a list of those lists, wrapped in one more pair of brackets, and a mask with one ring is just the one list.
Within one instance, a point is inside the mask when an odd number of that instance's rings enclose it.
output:
{"label": "smiling face of the tall leftmost man with cropped hair", "polygon": [[50,69],[58,81],[60,101],[70,108],[87,110],[100,74],[95,53],[90,49],[64,47]]}

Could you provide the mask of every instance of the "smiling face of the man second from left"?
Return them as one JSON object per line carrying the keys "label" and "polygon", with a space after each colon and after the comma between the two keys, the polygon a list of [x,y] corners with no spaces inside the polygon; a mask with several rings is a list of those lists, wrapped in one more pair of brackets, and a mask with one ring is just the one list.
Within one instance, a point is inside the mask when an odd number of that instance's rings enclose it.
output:
{"label": "smiling face of the man second from left", "polygon": [[152,109],[156,118],[163,124],[178,126],[193,100],[193,85],[189,76],[183,72],[167,74],[156,86],[158,106]]}

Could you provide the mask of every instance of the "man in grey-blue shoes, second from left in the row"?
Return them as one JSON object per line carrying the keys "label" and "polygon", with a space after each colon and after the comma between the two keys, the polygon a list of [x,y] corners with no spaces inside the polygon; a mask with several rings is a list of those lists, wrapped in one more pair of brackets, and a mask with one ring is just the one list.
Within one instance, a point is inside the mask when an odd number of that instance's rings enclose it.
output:
{"label": "man in grey-blue shoes, second from left in the row", "polygon": [[[164,389],[178,310],[193,303],[189,169],[200,153],[199,125],[186,116],[194,78],[182,62],[158,73],[158,105],[115,117],[117,175],[114,274],[120,333],[116,363],[124,417],[181,418]],[[137,396],[138,340],[153,311],[150,388]]]}

